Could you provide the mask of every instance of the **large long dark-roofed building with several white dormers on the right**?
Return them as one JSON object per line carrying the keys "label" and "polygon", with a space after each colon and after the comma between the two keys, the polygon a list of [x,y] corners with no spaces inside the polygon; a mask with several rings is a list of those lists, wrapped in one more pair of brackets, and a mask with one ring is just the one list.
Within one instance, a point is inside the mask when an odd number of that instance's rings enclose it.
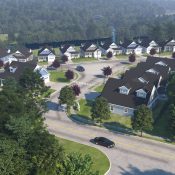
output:
{"label": "large long dark-roofed building with several white dormers on the right", "polygon": [[139,105],[152,108],[159,97],[166,95],[172,71],[175,71],[175,60],[148,57],[146,62],[126,71],[121,79],[109,78],[101,96],[109,102],[112,113],[133,116]]}

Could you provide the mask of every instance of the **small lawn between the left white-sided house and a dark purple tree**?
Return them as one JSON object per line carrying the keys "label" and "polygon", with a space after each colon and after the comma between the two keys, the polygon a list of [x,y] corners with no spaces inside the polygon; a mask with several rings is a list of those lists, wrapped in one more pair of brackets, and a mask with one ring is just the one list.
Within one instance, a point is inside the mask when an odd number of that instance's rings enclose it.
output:
{"label": "small lawn between the left white-sided house and a dark purple tree", "polygon": [[65,77],[64,71],[49,71],[50,81],[69,83],[70,81]]}

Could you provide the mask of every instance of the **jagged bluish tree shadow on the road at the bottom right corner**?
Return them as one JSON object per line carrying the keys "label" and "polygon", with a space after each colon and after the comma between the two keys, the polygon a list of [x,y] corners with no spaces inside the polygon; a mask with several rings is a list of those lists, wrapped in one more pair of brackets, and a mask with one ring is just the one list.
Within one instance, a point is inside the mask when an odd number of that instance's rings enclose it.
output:
{"label": "jagged bluish tree shadow on the road at the bottom right corner", "polygon": [[129,166],[129,170],[125,170],[121,167],[119,167],[122,172],[121,175],[174,175],[174,173],[167,172],[161,169],[152,169],[152,170],[146,170],[146,171],[141,171],[137,167],[134,167],[132,165]]}

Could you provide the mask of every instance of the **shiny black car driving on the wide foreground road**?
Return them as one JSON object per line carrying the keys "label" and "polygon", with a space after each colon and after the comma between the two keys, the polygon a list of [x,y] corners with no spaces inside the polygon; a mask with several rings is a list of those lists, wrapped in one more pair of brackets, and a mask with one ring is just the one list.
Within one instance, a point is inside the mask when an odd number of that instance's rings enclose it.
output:
{"label": "shiny black car driving on the wide foreground road", "polygon": [[92,140],[93,143],[95,143],[96,145],[101,145],[101,146],[105,146],[107,148],[113,148],[115,146],[115,143],[105,137],[95,137]]}

